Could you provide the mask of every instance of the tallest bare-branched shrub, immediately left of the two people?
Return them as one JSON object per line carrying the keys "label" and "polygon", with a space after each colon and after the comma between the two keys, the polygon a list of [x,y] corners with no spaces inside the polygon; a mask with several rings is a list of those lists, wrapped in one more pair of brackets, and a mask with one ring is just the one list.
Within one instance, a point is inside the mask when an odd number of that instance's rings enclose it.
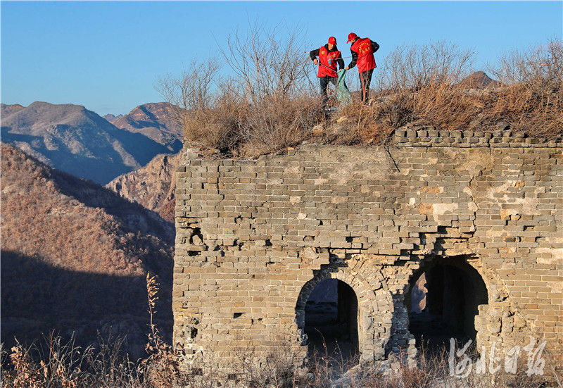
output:
{"label": "tallest bare-branched shrub, immediately left of the two people", "polygon": [[236,75],[231,80],[236,99],[244,106],[241,139],[258,154],[301,141],[320,117],[309,59],[303,56],[303,31],[281,30],[280,25],[267,29],[255,23],[244,35],[234,32],[222,50]]}

